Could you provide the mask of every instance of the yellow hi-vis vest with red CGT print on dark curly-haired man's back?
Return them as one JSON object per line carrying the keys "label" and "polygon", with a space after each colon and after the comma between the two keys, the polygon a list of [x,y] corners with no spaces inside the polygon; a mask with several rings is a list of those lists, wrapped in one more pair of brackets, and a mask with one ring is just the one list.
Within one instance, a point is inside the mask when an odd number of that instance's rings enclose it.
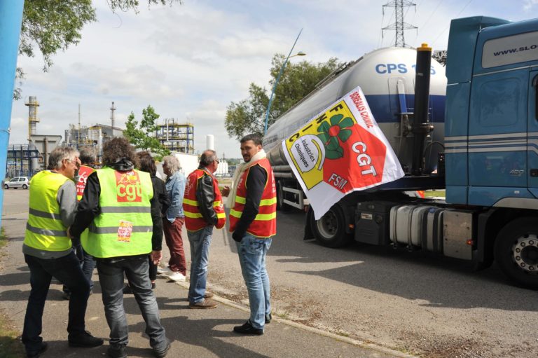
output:
{"label": "yellow hi-vis vest with red CGT print on dark curly-haired man's back", "polygon": [[149,173],[99,169],[99,207],[81,243],[88,254],[99,259],[135,256],[151,252],[151,204],[153,186]]}

